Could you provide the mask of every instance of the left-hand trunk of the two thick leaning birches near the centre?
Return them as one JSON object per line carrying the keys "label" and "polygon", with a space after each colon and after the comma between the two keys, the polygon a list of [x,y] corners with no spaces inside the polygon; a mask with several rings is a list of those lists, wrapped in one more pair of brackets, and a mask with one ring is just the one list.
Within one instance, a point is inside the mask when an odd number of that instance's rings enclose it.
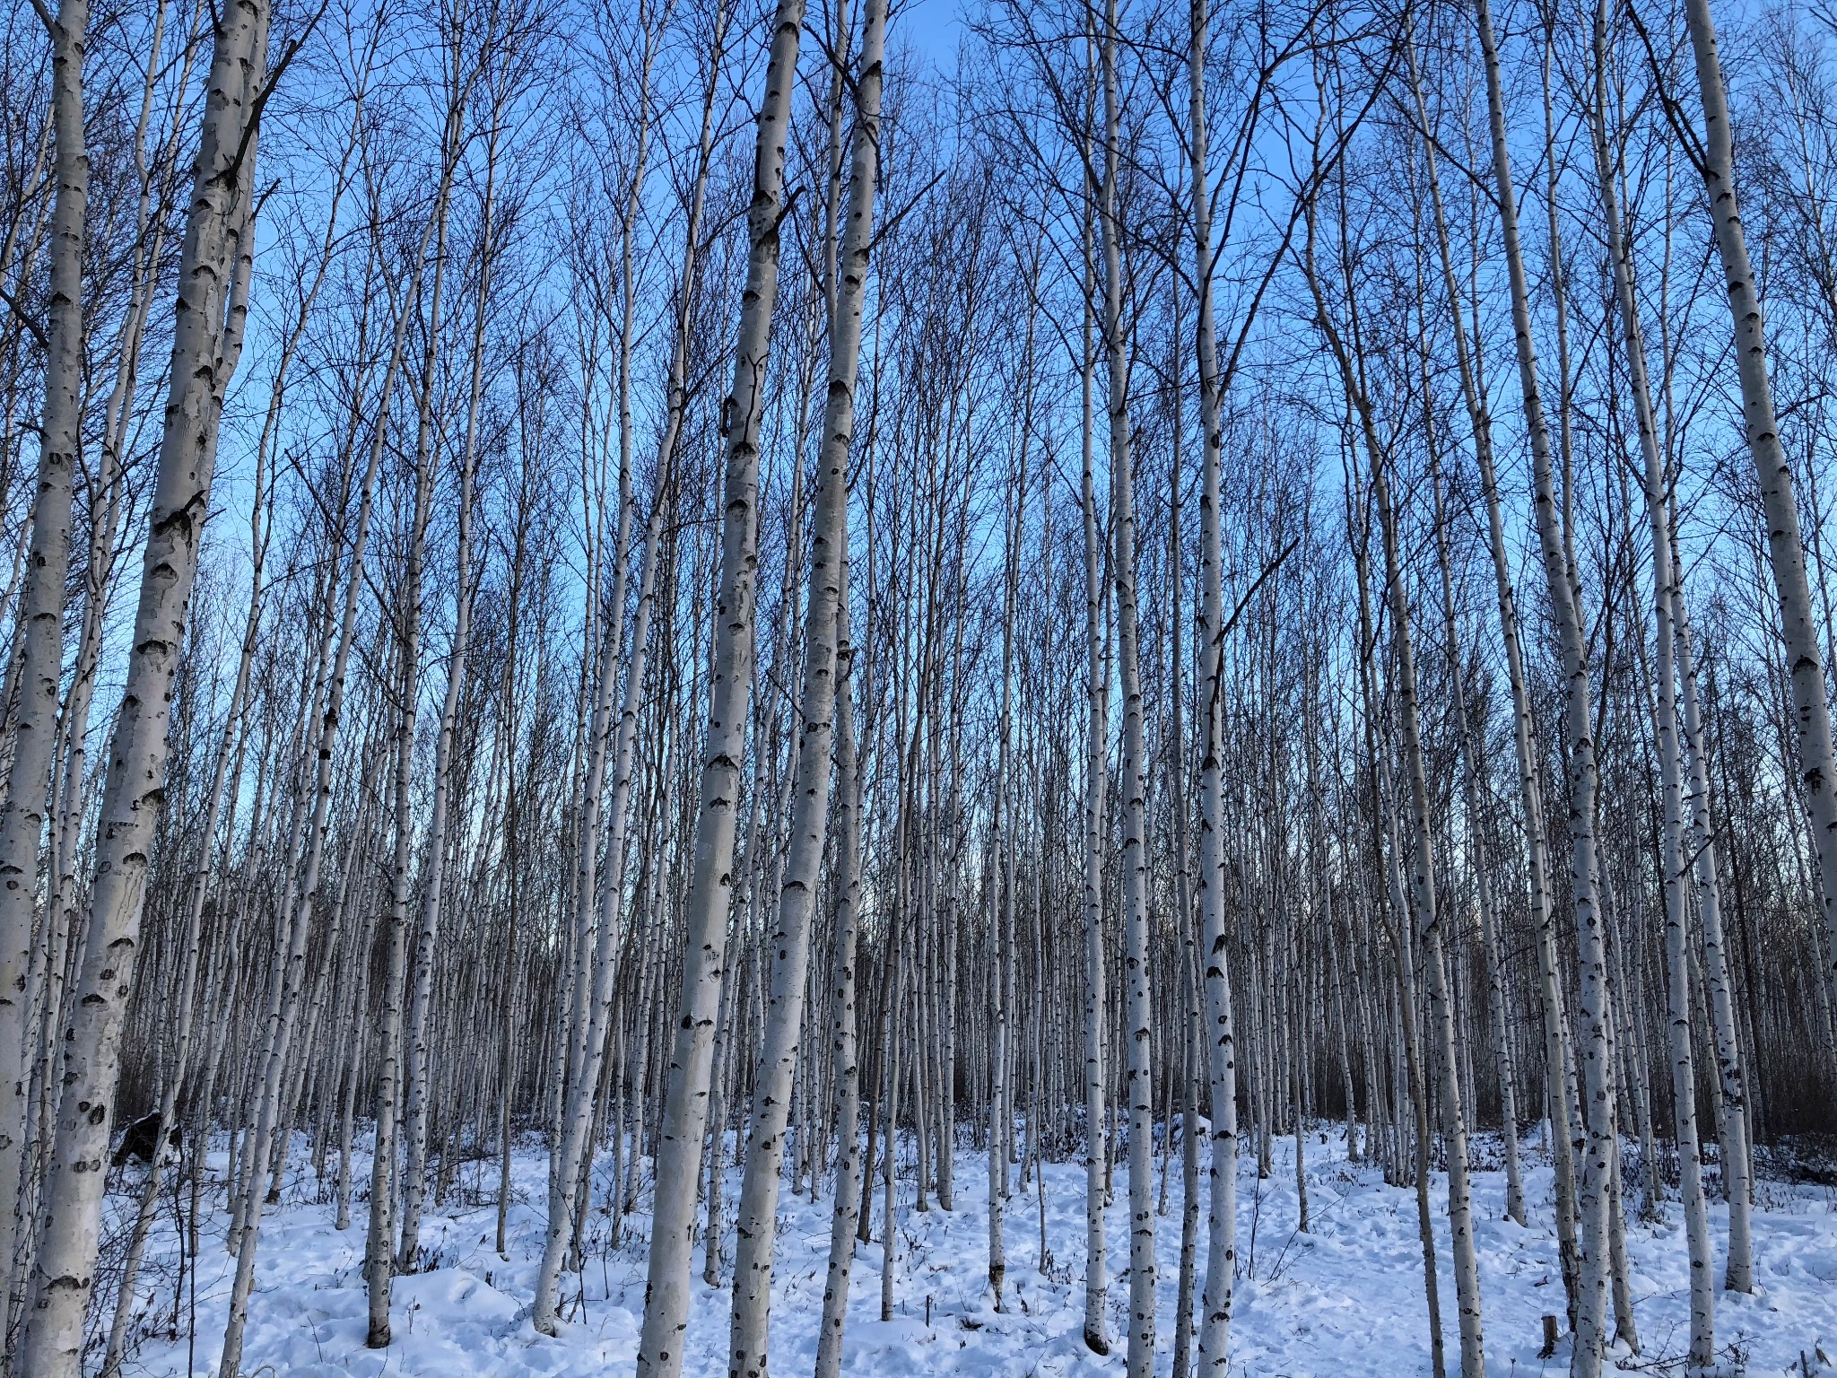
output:
{"label": "left-hand trunk of the two thick leaning birches near the centre", "polygon": [[639,1378],[674,1378],[689,1323],[689,1255],[694,1248],[696,1176],[707,1128],[707,1075],[720,1001],[720,970],[733,891],[733,832],[746,706],[753,687],[753,582],[759,566],[759,426],[777,301],[784,138],[803,0],[779,0],[772,24],[766,92],[759,108],[753,197],[748,206],[746,288],[735,347],[733,391],[722,408],[727,472],[722,494],[720,584],[715,601],[713,683],[702,753],[702,801],[683,913],[682,1009],[671,1045],[663,1126],[656,1154],[656,1213],[637,1345]]}

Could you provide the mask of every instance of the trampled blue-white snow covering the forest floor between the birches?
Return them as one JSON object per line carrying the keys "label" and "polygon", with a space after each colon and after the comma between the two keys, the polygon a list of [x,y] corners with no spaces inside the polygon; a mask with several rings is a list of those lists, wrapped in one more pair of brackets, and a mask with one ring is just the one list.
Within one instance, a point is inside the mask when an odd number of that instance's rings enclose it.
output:
{"label": "trampled blue-white snow covering the forest floor between the birches", "polygon": [[[900,1246],[895,1319],[880,1321],[878,1235],[858,1251],[849,1306],[843,1371],[851,1374],[1121,1374],[1128,1301],[1126,1176],[1117,1167],[1115,1205],[1108,1213],[1111,1266],[1110,1358],[1082,1343],[1084,1316],[1084,1176],[1078,1165],[1045,1170],[1045,1244],[1040,1257],[1042,1207],[1029,1191],[1009,1202],[1007,1312],[996,1314],[986,1273],[986,1159],[957,1159],[955,1211],[931,1203],[911,1209],[911,1187],[900,1183]],[[220,1167],[220,1163],[219,1163]],[[360,1169],[364,1165],[360,1163]],[[1383,1185],[1376,1169],[1348,1165],[1337,1126],[1306,1139],[1312,1231],[1297,1231],[1293,1139],[1277,1143],[1275,1172],[1258,1181],[1245,1158],[1240,1180],[1236,1312],[1231,1372],[1273,1374],[1427,1374],[1429,1338],[1416,1238],[1414,1192]],[[1172,1163],[1168,1214],[1159,1224],[1159,1356],[1172,1363],[1174,1301],[1179,1264],[1179,1159]],[[362,1181],[367,1172],[358,1174]],[[492,1249],[496,1165],[461,1170],[461,1187],[446,1207],[432,1209],[423,1242],[428,1271],[395,1282],[393,1332],[388,1350],[364,1349],[364,1207],[351,1229],[332,1229],[329,1187],[321,1192],[303,1163],[281,1205],[263,1224],[257,1290],[250,1303],[242,1372],[266,1378],[331,1374],[604,1374],[626,1369],[637,1350],[645,1295],[645,1226],[626,1222],[619,1248],[606,1246],[608,1220],[593,1218],[593,1246],[582,1275],[566,1279],[569,1319],[555,1339],[529,1323],[542,1246],[546,1158],[531,1143],[514,1159],[516,1205],[511,1213],[509,1259]],[[1016,1176],[1018,1185],[1018,1176]],[[1157,1183],[1159,1185],[1159,1183]],[[733,1174],[729,1192],[738,1191]],[[1201,1176],[1201,1191],[1203,1176]],[[1501,1172],[1475,1174],[1475,1216],[1492,1374],[1567,1371],[1567,1339],[1552,1360],[1539,1360],[1541,1319],[1561,1310],[1561,1282],[1550,1220],[1550,1170],[1534,1159],[1527,1192],[1532,1226],[1505,1214]],[[323,1196],[323,1200],[320,1200]],[[1817,1347],[1837,1358],[1837,1191],[1762,1181],[1754,1214],[1754,1295],[1718,1293],[1716,1343],[1725,1365],[1747,1374],[1800,1371],[1800,1352],[1819,1371]],[[604,1183],[595,1202],[604,1198]],[[125,1198],[112,1198],[121,1209]],[[729,1220],[731,1220],[729,1196]],[[1459,1371],[1455,1288],[1448,1266],[1446,1180],[1433,1191],[1448,1367]],[[648,1205],[648,1196],[647,1196]],[[876,1202],[878,1207],[878,1202]],[[828,1253],[828,1198],[816,1205],[784,1192],[772,1305],[772,1369],[779,1378],[808,1374]],[[1681,1211],[1668,1220],[1635,1226],[1628,1237],[1631,1284],[1642,1356],[1617,1352],[1622,1369],[1679,1372],[1688,1328],[1686,1260]],[[125,1371],[130,1374],[215,1374],[222,1343],[233,1260],[222,1251],[224,1218],[208,1222],[198,1270],[195,1336],[191,1288],[180,1308],[178,1339],[167,1338],[176,1277],[176,1238],[167,1209],[149,1246],[149,1286],[141,1321],[147,1334]],[[1727,1213],[1712,1207],[1718,1257]],[[1255,1240],[1255,1242],[1253,1242]],[[727,1244],[731,1262],[731,1240]],[[1201,1222],[1203,1271],[1203,1222]],[[1043,1266],[1042,1266],[1043,1262]],[[700,1251],[696,1255],[700,1273]],[[582,1286],[584,1284],[584,1286]],[[687,1372],[722,1374],[727,1354],[727,1292],[696,1281],[689,1323]],[[930,1312],[930,1323],[926,1319]]]}

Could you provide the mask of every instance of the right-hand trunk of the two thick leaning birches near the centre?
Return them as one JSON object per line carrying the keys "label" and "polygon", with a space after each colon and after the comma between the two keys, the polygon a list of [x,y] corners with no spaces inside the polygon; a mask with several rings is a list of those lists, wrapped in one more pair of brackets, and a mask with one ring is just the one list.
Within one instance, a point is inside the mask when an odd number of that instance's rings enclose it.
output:
{"label": "right-hand trunk of the two thick leaning birches near the centre", "polygon": [[[733,1327],[727,1371],[766,1372],[766,1327],[777,1235],[779,1167],[792,1077],[803,1033],[810,965],[810,915],[816,906],[828,832],[830,746],[834,740],[838,632],[849,549],[849,448],[854,441],[854,375],[862,358],[867,255],[873,246],[874,182],[880,169],[880,83],[887,0],[867,0],[862,57],[854,81],[854,140],[847,226],[841,237],[836,312],[830,322],[828,399],[817,448],[816,514],[810,542],[810,592],[805,612],[805,663],[799,696],[792,836],[779,889],[772,948],[772,996],[753,1082],[746,1172],[735,1216]],[[852,781],[843,779],[841,790]],[[854,1135],[854,1126],[849,1126]]]}

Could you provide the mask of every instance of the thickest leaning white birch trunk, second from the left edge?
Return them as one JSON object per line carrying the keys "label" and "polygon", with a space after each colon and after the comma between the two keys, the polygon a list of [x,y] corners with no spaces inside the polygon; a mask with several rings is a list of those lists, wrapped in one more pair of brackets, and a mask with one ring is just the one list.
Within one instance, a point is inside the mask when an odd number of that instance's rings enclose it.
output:
{"label": "thickest leaning white birch trunk, second from the left edge", "polygon": [[141,570],[127,685],[108,751],[88,937],[64,1027],[62,1101],[40,1211],[35,1306],[22,1371],[75,1378],[101,1248],[103,1158],[121,1069],[121,1025],[165,786],[171,685],[209,507],[217,424],[241,355],[252,265],[250,186],[266,83],[266,0],[222,11],[180,254],[171,390]]}

